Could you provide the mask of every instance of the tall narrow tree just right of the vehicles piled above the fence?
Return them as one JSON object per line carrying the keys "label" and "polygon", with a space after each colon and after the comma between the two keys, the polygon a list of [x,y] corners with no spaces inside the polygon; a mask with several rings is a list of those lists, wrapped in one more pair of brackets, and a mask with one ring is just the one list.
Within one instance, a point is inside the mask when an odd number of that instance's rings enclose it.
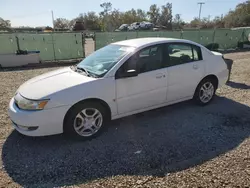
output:
{"label": "tall narrow tree just right of the vehicles piled above the fence", "polygon": [[159,18],[159,23],[165,26],[167,29],[172,29],[172,3],[167,3],[161,7],[161,15]]}

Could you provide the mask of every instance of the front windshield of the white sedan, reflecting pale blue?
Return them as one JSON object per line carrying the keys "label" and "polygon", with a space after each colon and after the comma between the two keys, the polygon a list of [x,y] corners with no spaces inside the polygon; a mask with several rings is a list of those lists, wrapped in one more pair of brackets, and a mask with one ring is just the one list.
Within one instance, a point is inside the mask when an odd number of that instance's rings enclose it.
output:
{"label": "front windshield of the white sedan, reflecting pale blue", "polygon": [[77,65],[77,68],[87,70],[90,75],[92,74],[97,77],[102,77],[119,60],[134,50],[134,47],[110,44],[83,59]]}

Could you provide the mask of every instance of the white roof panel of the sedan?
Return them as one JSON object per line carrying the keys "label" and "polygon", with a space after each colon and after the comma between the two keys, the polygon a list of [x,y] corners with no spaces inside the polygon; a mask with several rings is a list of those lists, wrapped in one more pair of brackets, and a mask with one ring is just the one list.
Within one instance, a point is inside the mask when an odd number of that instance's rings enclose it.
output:
{"label": "white roof panel of the sedan", "polygon": [[[175,38],[161,38],[161,37],[129,39],[129,40],[115,42],[113,44],[140,48],[140,47],[154,45],[158,43],[164,43],[164,42],[185,42],[185,43],[196,44],[189,40],[175,39]],[[200,46],[199,44],[196,44],[196,45]]]}

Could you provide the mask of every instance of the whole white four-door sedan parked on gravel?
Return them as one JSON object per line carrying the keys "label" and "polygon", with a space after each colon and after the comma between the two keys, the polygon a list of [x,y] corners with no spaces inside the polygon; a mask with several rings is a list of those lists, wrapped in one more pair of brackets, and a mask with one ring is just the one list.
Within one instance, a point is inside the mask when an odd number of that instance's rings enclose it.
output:
{"label": "whole white four-door sedan parked on gravel", "polygon": [[222,54],[191,41],[125,40],[27,81],[11,99],[9,116],[24,135],[88,139],[109,120],[190,99],[206,105],[228,72]]}

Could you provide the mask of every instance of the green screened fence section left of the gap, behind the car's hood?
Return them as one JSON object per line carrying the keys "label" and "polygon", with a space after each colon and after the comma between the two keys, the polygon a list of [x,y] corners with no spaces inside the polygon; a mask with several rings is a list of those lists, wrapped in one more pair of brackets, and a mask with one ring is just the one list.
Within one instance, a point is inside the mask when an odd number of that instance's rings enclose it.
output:
{"label": "green screened fence section left of the gap, behind the car's hood", "polygon": [[45,61],[77,59],[85,56],[84,37],[81,33],[0,35],[0,54],[16,53],[17,50],[40,51],[40,58]]}

